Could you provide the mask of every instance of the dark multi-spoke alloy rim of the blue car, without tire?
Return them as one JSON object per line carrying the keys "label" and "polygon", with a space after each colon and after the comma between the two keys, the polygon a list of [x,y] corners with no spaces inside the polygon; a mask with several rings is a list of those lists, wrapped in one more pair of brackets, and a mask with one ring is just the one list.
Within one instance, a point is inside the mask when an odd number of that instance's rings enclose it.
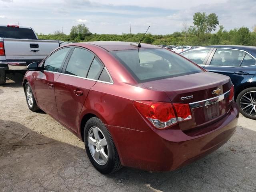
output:
{"label": "dark multi-spoke alloy rim of the blue car, without tire", "polygon": [[250,116],[256,116],[256,91],[246,92],[240,99],[241,109]]}

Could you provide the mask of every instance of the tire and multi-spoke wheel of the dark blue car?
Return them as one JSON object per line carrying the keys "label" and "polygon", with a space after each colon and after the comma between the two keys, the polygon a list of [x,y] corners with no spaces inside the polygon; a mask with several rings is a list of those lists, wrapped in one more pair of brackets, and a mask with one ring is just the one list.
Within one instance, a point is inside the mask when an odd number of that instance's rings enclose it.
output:
{"label": "tire and multi-spoke wheel of the dark blue car", "polygon": [[[243,116],[256,120],[256,87],[242,90],[236,98],[236,104],[238,105],[239,112]],[[250,106],[248,106],[249,104]]]}

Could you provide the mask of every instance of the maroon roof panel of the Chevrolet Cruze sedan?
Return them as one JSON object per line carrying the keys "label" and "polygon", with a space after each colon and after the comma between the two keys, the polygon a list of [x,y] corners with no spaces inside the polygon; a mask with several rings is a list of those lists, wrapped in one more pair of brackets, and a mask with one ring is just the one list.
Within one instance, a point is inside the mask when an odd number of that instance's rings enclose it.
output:
{"label": "maroon roof panel of the Chevrolet Cruze sedan", "polygon": [[[141,43],[141,47],[131,45],[132,42],[123,41],[94,41],[94,42],[82,42],[76,44],[93,44],[99,46],[107,51],[117,51],[117,50],[133,50],[133,49],[163,49],[158,46]],[[72,45],[72,44],[69,44]]]}

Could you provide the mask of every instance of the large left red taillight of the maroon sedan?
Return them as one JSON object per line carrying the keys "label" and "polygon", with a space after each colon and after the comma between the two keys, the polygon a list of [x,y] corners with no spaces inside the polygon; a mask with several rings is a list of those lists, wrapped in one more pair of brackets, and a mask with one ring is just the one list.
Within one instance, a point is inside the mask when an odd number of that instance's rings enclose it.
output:
{"label": "large left red taillight of the maroon sedan", "polygon": [[134,101],[134,106],[158,129],[164,129],[192,118],[188,104],[172,105],[166,102]]}

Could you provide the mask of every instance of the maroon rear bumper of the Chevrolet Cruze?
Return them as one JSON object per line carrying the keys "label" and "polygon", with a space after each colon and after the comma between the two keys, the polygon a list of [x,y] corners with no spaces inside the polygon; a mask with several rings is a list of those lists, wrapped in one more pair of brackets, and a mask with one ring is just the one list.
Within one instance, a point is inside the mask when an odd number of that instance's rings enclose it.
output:
{"label": "maroon rear bumper of the Chevrolet Cruze", "polygon": [[181,130],[149,129],[140,132],[107,126],[116,144],[122,165],[148,171],[170,171],[185,166],[220,148],[234,134],[238,108],[230,112],[206,134],[190,137]]}

